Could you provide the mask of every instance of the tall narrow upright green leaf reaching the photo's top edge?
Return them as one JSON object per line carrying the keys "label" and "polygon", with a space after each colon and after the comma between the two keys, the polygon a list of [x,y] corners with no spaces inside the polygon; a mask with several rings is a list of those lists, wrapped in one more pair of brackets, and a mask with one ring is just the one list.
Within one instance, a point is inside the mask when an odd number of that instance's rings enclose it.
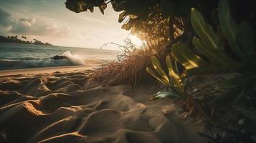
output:
{"label": "tall narrow upright green leaf reaching the photo's top edge", "polygon": [[242,61],[245,61],[245,54],[242,53],[236,42],[238,26],[230,16],[229,4],[227,0],[219,1],[218,11],[220,28],[222,29],[227,41],[229,41],[229,46],[237,57],[239,57]]}

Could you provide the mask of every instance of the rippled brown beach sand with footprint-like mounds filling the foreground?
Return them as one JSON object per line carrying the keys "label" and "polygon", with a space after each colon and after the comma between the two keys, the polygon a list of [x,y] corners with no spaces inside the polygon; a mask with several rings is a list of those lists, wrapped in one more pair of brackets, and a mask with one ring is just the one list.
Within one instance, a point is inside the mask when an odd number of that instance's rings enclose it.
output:
{"label": "rippled brown beach sand with footprint-like mounds filling the foreground", "polygon": [[0,142],[205,142],[170,99],[149,101],[155,87],[92,87],[85,69],[55,70],[0,73]]}

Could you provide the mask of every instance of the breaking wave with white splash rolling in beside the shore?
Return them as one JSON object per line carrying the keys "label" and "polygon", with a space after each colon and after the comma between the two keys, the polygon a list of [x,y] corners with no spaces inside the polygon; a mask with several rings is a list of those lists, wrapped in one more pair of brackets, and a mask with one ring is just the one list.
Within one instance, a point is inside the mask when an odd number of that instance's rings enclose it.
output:
{"label": "breaking wave with white splash rolling in beside the shore", "polygon": [[62,56],[66,56],[67,59],[53,60],[51,59],[52,57],[45,59],[38,59],[32,57],[24,57],[21,59],[0,59],[0,70],[100,64],[102,62],[102,60],[100,59],[86,59],[86,57],[83,57],[79,54],[71,54],[70,51],[65,51]]}

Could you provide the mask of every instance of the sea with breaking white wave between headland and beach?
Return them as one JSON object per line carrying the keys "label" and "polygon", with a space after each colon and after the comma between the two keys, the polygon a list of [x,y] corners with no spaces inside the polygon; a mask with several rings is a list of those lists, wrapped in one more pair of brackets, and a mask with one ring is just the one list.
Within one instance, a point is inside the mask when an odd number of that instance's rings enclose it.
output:
{"label": "sea with breaking white wave between headland and beach", "polygon": [[[56,55],[67,59],[52,59]],[[99,64],[117,56],[118,51],[108,49],[0,43],[0,70]]]}

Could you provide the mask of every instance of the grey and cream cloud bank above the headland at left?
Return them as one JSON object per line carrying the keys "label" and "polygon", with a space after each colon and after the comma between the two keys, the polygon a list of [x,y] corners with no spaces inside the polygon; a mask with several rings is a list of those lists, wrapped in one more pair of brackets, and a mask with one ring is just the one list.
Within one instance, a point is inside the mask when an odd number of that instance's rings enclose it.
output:
{"label": "grey and cream cloud bank above the headland at left", "polygon": [[[21,34],[27,36],[56,36],[65,37],[70,33],[67,26],[35,18],[14,19],[11,14],[0,8],[0,27],[6,34]],[[3,32],[3,31],[2,31]]]}

